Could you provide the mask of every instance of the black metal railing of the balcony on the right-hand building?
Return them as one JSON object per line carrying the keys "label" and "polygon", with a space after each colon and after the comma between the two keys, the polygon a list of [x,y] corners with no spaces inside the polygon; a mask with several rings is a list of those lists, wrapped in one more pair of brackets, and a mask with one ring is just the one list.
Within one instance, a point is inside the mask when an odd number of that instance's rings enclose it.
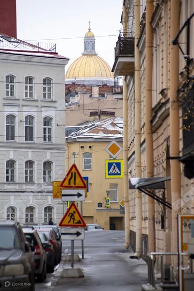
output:
{"label": "black metal railing of the balcony on the right-hand building", "polygon": [[120,32],[116,47],[114,48],[115,59],[121,55],[134,55],[134,37],[129,32]]}

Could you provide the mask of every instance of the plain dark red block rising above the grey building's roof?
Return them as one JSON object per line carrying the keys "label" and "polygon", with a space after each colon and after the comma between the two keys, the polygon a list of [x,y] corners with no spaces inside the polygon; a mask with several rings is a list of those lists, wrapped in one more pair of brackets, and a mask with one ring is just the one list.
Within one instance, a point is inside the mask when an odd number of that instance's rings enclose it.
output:
{"label": "plain dark red block rising above the grey building's roof", "polygon": [[0,32],[17,37],[16,0],[0,0]]}

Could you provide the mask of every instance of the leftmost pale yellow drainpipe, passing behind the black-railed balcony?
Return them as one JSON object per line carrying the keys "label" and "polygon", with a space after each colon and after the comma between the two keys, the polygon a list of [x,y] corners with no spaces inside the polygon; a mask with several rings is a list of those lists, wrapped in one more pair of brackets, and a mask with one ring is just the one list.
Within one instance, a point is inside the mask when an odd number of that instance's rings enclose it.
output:
{"label": "leftmost pale yellow drainpipe, passing behind the black-railed balcony", "polygon": [[[123,31],[128,31],[128,13],[123,5]],[[123,192],[125,202],[125,248],[129,248],[129,180],[128,180],[128,86],[123,76]]]}

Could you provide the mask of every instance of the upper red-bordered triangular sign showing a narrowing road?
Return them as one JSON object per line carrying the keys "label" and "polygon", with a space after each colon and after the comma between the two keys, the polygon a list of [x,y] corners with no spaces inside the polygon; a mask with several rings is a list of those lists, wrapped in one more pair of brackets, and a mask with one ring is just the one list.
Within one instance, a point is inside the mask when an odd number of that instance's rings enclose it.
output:
{"label": "upper red-bordered triangular sign showing a narrowing road", "polygon": [[72,164],[68,173],[66,174],[64,180],[62,181],[60,187],[62,188],[76,188],[76,189],[86,189],[86,183],[84,179],[81,177],[81,174],[76,166],[76,164]]}

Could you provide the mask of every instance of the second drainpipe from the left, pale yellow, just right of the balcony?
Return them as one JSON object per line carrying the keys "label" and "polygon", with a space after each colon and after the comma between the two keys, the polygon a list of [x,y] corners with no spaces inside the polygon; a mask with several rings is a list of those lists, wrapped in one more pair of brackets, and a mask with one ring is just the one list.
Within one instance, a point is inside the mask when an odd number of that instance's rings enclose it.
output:
{"label": "second drainpipe from the left, pale yellow, just right of the balcony", "polygon": [[[135,176],[141,177],[141,97],[140,97],[140,52],[137,42],[140,36],[140,0],[134,1],[135,19]],[[142,248],[142,194],[136,190],[136,252],[134,257],[141,256]]]}

